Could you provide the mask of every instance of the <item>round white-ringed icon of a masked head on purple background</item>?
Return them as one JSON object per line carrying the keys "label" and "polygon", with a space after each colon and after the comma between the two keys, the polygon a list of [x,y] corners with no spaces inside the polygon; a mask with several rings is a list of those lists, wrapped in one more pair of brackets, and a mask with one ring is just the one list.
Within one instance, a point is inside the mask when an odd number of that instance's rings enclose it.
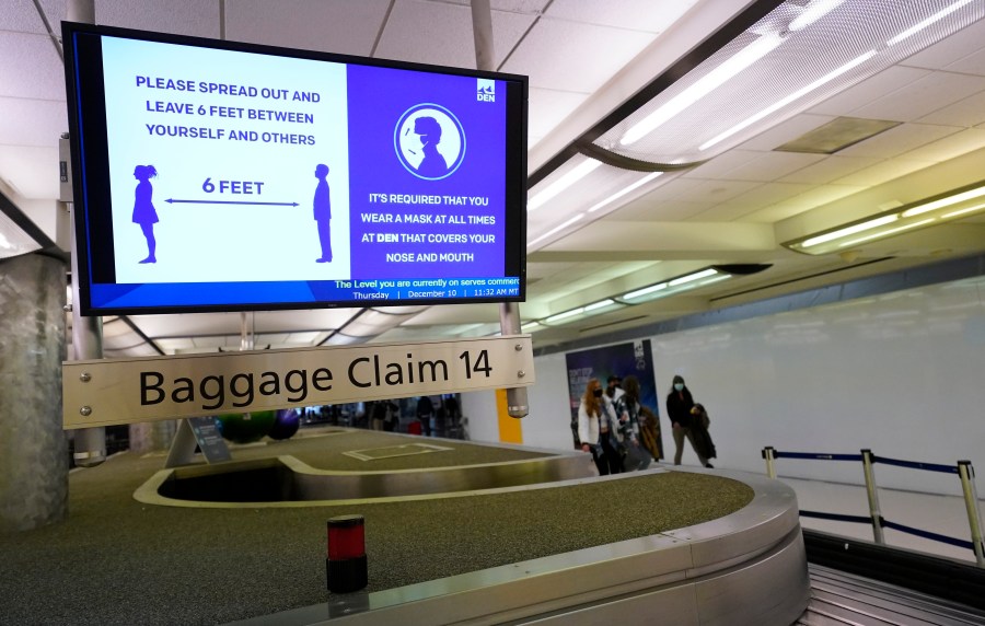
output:
{"label": "round white-ringed icon of a masked head on purple background", "polygon": [[404,112],[393,134],[397,158],[425,181],[451,176],[465,159],[465,131],[449,109],[418,104]]}

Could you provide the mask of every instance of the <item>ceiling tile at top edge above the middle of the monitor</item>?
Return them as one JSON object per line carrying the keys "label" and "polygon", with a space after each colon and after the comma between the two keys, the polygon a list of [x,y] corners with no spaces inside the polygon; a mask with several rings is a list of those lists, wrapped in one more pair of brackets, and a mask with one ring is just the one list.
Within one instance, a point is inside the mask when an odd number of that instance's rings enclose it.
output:
{"label": "ceiling tile at top edge above the middle of the monitor", "polygon": [[368,57],[389,5],[389,0],[237,0],[227,4],[227,36]]}

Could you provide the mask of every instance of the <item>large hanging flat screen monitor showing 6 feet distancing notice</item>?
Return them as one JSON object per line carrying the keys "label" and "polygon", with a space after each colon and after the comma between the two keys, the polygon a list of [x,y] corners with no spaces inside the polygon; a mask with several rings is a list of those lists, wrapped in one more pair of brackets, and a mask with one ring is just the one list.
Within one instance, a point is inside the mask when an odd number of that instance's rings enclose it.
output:
{"label": "large hanging flat screen monitor showing 6 feet distancing notice", "polygon": [[523,300],[525,77],[62,31],[83,315]]}

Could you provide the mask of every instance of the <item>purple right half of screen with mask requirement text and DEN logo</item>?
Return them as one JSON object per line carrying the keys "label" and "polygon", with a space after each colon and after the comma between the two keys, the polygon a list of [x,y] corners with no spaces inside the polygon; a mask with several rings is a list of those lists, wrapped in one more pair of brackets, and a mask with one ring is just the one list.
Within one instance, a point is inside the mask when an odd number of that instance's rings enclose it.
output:
{"label": "purple right half of screen with mask requirement text and DEN logo", "polygon": [[502,273],[503,85],[424,79],[348,67],[354,279]]}

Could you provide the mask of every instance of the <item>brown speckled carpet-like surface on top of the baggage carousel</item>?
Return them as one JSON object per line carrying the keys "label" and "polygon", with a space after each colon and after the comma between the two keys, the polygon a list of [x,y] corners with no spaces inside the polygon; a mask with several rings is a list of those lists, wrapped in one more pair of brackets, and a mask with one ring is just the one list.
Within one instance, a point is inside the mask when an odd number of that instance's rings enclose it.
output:
{"label": "brown speckled carpet-like surface on top of the baggage carousel", "polygon": [[[323,470],[398,470],[536,457],[438,440],[449,452],[363,462],[345,450],[421,438],[350,431],[233,449]],[[222,624],[325,602],[325,521],[366,517],[368,591],[645,536],[716,519],[752,489],[665,473],[564,488],[289,509],[142,505],[163,456],[121,454],[70,476],[69,519],[0,535],[0,624]]]}

